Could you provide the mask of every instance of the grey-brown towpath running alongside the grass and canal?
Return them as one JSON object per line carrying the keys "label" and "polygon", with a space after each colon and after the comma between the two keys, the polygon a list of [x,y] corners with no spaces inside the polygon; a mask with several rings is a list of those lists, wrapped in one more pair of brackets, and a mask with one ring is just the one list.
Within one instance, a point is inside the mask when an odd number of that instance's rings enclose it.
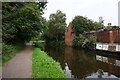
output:
{"label": "grey-brown towpath running alongside the grass and canal", "polygon": [[7,62],[2,70],[3,78],[31,78],[32,75],[32,52],[31,46],[26,47],[20,53]]}

